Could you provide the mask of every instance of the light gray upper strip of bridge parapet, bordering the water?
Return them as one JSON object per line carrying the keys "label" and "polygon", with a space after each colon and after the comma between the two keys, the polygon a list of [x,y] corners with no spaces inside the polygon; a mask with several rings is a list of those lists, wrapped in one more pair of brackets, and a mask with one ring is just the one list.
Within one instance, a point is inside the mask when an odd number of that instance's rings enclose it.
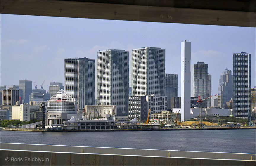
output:
{"label": "light gray upper strip of bridge parapet, bordering the water", "polygon": [[96,153],[96,154],[113,154],[113,155],[142,155],[142,156],[158,156],[158,157],[189,157],[189,158],[230,159],[230,160],[251,160],[251,159],[256,160],[256,154],[245,154],[245,153],[195,152],[195,151],[177,151],[177,150],[82,147],[82,146],[17,144],[17,143],[0,143],[0,147],[1,149],[31,150],[31,151]]}

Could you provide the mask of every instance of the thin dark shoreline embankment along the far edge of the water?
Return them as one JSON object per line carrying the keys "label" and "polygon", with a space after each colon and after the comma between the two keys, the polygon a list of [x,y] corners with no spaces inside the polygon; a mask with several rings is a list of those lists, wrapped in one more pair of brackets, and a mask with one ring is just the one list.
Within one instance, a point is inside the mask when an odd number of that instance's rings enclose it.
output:
{"label": "thin dark shoreline embankment along the far edge of the water", "polygon": [[255,127],[243,127],[243,128],[178,128],[178,129],[97,129],[97,130],[42,130],[42,129],[25,129],[25,128],[2,128],[7,131],[25,131],[25,132],[114,132],[114,131],[177,131],[177,130],[244,130],[244,129],[256,129]]}

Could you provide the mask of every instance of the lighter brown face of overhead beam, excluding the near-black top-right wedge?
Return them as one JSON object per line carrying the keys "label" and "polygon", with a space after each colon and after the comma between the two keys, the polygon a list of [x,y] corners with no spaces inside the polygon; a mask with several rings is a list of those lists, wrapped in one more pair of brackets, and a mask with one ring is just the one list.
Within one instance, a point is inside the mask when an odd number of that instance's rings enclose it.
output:
{"label": "lighter brown face of overhead beam, excluding the near-black top-right wedge", "polygon": [[36,0],[1,0],[0,7],[1,14],[256,27],[251,11]]}

